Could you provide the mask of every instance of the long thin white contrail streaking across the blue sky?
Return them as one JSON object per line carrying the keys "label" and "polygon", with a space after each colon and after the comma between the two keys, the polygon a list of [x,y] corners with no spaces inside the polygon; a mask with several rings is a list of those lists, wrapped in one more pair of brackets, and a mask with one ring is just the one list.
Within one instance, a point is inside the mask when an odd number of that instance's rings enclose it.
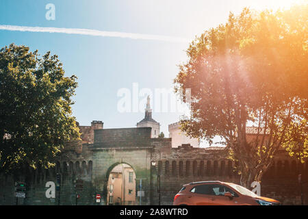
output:
{"label": "long thin white contrail streaking across the blue sky", "polygon": [[62,34],[88,35],[88,36],[131,38],[133,40],[158,40],[165,42],[186,42],[186,43],[190,42],[190,40],[186,38],[177,38],[172,36],[133,34],[133,33],[116,32],[116,31],[100,31],[97,29],[26,27],[26,26],[15,26],[15,25],[0,25],[0,29],[9,31],[45,32],[45,33],[62,33]]}

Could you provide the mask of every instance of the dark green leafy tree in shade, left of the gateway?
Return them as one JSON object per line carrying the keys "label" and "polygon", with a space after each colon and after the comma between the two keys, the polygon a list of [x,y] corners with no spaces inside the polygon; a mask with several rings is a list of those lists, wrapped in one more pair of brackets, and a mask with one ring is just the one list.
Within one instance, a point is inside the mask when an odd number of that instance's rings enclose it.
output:
{"label": "dark green leafy tree in shade, left of the gateway", "polygon": [[77,77],[64,77],[57,55],[29,47],[0,50],[0,170],[47,168],[65,142],[79,139],[71,115]]}

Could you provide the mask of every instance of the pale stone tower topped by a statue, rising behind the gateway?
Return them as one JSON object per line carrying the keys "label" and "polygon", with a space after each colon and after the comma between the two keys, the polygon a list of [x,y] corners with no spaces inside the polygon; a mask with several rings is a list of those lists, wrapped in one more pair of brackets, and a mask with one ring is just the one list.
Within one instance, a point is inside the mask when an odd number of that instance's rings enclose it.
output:
{"label": "pale stone tower topped by a statue, rising behind the gateway", "polygon": [[144,119],[137,123],[137,127],[151,127],[151,138],[158,138],[159,135],[159,123],[152,118],[152,109],[150,105],[150,96],[147,98],[146,109]]}

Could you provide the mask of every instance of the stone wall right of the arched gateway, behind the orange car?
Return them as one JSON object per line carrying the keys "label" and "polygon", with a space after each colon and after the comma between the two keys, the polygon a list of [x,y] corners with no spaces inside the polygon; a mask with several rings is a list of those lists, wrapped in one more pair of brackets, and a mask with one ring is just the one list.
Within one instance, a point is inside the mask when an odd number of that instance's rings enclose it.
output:
{"label": "stone wall right of the arched gateway, behind the orange car", "polygon": [[[159,157],[155,177],[160,176],[161,203],[171,205],[173,198],[183,185],[194,181],[225,181],[240,184],[236,164],[227,159],[227,151],[195,149],[182,145],[179,149],[157,149],[153,157]],[[280,151],[274,165],[261,181],[261,196],[281,201],[283,205],[300,205],[298,173],[308,181],[308,165],[299,164],[296,159]],[[308,205],[307,184],[303,186],[305,204]],[[158,200],[157,200],[158,202]]]}

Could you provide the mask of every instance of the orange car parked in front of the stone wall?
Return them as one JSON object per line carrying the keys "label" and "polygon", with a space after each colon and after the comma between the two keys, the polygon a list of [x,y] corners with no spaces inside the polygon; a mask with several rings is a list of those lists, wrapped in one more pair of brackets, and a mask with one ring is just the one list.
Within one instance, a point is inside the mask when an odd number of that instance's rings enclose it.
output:
{"label": "orange car parked in front of the stone wall", "polygon": [[173,205],[281,205],[234,183],[203,181],[183,185]]}

